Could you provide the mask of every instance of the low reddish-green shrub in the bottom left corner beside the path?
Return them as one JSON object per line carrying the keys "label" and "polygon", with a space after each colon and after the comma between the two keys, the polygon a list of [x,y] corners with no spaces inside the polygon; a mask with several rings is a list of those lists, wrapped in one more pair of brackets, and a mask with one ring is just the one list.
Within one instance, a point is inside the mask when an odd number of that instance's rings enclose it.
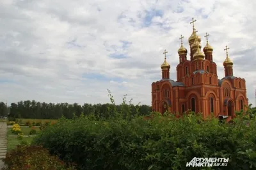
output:
{"label": "low reddish-green shrub in the bottom left corner beside the path", "polygon": [[[3,159],[8,166],[4,169],[76,169],[74,166],[66,166],[58,157],[49,154],[42,146],[19,145],[6,154]],[[3,169],[3,170],[4,170]]]}

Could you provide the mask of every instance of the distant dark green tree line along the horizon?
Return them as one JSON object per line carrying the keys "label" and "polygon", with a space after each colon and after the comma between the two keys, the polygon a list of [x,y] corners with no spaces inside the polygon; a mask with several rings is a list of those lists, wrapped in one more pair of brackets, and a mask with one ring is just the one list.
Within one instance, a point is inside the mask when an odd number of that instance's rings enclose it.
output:
{"label": "distant dark green tree line along the horizon", "polygon": [[9,118],[30,118],[30,119],[58,119],[61,116],[65,118],[72,118],[74,114],[80,116],[94,114],[99,118],[108,118],[111,111],[109,109],[116,109],[116,112],[122,112],[124,107],[129,107],[131,114],[147,115],[151,111],[148,105],[133,105],[133,104],[83,104],[77,103],[45,103],[36,102],[35,100],[25,100],[17,103],[12,103],[10,106],[0,103],[0,116]]}

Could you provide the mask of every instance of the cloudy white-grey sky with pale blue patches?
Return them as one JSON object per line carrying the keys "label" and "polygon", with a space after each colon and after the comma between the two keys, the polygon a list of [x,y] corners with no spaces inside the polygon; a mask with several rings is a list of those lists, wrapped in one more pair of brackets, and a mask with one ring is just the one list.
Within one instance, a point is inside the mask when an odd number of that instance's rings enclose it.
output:
{"label": "cloudy white-grey sky with pale blue patches", "polygon": [[195,28],[213,47],[218,79],[225,45],[234,75],[246,80],[255,105],[256,1],[238,0],[1,0],[0,101],[110,102],[151,105],[164,49],[177,81],[180,35],[189,49]]}

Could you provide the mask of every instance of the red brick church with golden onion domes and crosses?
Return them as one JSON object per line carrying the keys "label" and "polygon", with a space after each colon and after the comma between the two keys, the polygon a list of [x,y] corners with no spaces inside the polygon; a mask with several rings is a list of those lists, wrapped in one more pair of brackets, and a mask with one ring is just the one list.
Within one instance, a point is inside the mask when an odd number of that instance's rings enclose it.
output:
{"label": "red brick church with golden onion domes and crosses", "polygon": [[[233,61],[228,56],[228,47],[224,49],[226,58],[223,61],[225,77],[218,79],[217,65],[214,63],[212,47],[208,42],[201,50],[201,38],[197,35],[192,19],[193,32],[188,38],[190,50],[182,43],[178,50],[179,64],[176,67],[177,81],[170,79],[170,65],[166,61],[161,65],[162,79],[152,83],[152,111],[172,113],[186,111],[201,112],[206,118],[210,114],[233,118],[236,111],[241,111],[248,105],[246,97],[246,82],[243,78],[234,76]],[[223,52],[224,53],[224,52]]]}

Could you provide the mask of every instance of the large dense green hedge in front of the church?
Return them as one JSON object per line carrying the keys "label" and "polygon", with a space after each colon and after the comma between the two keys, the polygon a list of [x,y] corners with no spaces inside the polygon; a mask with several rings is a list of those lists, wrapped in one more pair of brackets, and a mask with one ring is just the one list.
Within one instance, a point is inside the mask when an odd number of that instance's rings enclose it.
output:
{"label": "large dense green hedge in front of the church", "polygon": [[82,115],[45,127],[34,142],[78,169],[186,169],[193,157],[228,157],[221,169],[256,169],[255,118],[248,121],[250,127],[240,116],[227,124],[193,114],[97,121]]}

